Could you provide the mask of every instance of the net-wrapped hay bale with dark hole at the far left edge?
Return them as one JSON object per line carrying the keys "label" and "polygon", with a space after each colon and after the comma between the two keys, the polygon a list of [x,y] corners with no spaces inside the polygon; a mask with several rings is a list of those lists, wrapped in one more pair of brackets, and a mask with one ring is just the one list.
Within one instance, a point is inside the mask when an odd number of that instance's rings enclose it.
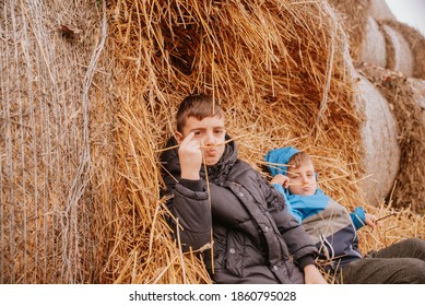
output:
{"label": "net-wrapped hay bale with dark hole at the far left edge", "polygon": [[106,14],[50,2],[5,1],[0,16],[0,283],[96,282],[106,255],[88,190],[107,130],[90,116],[107,108]]}

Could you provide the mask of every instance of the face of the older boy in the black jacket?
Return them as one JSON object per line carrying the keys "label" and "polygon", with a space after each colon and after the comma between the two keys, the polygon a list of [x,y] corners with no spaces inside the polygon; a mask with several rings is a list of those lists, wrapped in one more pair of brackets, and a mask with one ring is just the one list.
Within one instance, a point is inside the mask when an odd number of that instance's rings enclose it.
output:
{"label": "face of the older boy in the black jacket", "polygon": [[193,141],[201,144],[203,163],[208,166],[215,165],[223,156],[225,148],[224,118],[214,116],[198,120],[194,117],[188,117],[181,133],[176,132],[178,143],[181,143],[190,132],[194,133]]}

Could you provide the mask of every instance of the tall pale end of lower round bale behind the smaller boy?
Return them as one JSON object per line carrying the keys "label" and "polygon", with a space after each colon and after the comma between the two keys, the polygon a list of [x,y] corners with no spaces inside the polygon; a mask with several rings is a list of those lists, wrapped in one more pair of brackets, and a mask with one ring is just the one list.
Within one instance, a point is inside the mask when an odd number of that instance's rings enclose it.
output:
{"label": "tall pale end of lower round bale behind the smaller boy", "polygon": [[386,98],[365,76],[358,78],[357,101],[366,118],[362,129],[365,148],[362,187],[368,203],[378,207],[390,193],[399,173],[398,128]]}

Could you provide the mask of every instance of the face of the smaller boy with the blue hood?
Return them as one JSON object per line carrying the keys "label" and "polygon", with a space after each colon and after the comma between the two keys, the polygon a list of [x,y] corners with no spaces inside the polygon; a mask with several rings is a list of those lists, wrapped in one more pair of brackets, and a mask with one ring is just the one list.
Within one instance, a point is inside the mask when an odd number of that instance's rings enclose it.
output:
{"label": "face of the smaller boy with the blue hood", "polygon": [[299,167],[288,167],[290,192],[299,196],[312,196],[317,189],[315,166],[311,161],[303,163]]}

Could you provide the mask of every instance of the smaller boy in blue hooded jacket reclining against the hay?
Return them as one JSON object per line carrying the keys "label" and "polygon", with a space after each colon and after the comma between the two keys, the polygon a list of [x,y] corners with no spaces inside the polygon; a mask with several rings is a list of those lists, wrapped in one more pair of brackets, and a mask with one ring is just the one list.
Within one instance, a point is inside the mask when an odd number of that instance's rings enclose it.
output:
{"label": "smaller boy in blue hooded jacket reclining against the hay", "polygon": [[271,184],[286,199],[287,211],[319,248],[318,262],[342,283],[425,283],[425,242],[405,239],[365,257],[356,231],[376,226],[377,217],[356,208],[349,213],[317,186],[311,157],[285,146],[265,155]]}

